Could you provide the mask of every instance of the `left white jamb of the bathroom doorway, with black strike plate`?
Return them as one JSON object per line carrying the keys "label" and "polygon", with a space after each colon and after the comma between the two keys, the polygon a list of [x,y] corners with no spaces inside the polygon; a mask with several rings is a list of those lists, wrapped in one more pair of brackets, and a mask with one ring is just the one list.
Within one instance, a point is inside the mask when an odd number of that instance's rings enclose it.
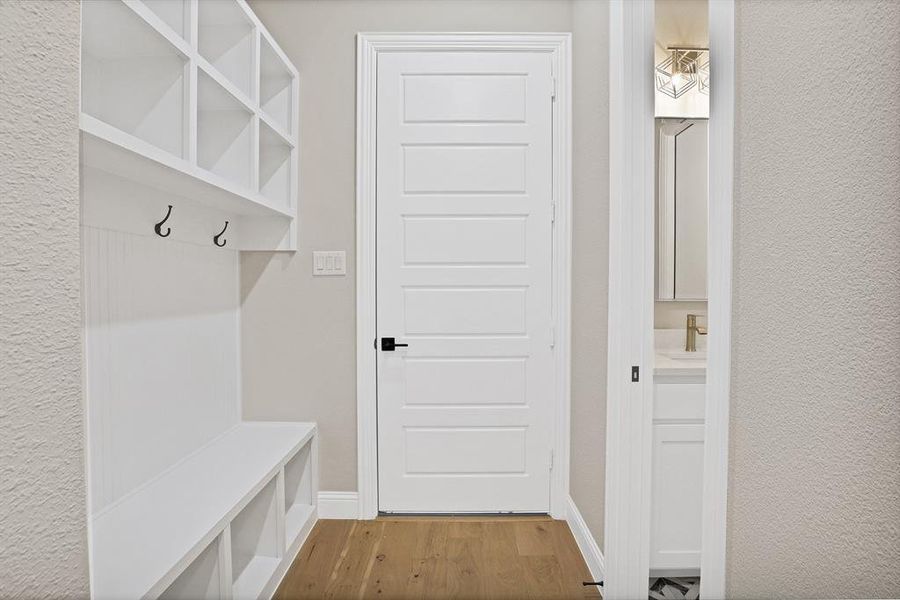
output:
{"label": "left white jamb of the bathroom doorway, with black strike plate", "polygon": [[[646,597],[653,418],[654,0],[609,4],[604,598]],[[632,368],[640,369],[633,381]]]}

